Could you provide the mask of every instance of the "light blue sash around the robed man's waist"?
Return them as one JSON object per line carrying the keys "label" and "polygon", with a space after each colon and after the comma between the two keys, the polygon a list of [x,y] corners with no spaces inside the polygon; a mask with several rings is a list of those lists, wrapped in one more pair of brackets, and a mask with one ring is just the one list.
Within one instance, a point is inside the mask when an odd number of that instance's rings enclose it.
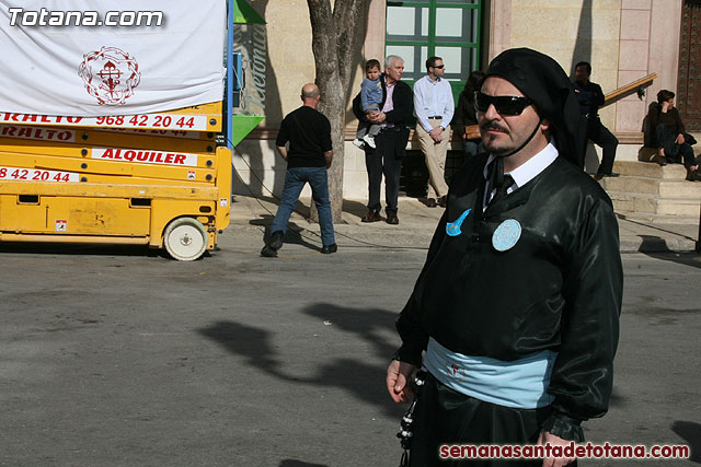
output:
{"label": "light blue sash around the robed man's waist", "polygon": [[452,352],[428,340],[424,366],[449,388],[475,399],[518,409],[549,406],[547,393],[556,352],[543,350],[513,362]]}

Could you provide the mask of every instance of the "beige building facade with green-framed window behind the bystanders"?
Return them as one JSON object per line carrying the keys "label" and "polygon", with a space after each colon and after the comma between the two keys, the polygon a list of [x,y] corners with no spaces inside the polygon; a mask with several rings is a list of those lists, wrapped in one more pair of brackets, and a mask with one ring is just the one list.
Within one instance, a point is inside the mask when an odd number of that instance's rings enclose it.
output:
{"label": "beige building facade with green-framed window behind the bystanders", "polygon": [[[300,105],[299,90],[314,81],[311,25],[306,0],[251,0],[267,22],[251,26],[238,38],[245,55],[246,90],[242,112],[265,120],[235,149],[234,192],[279,195],[285,161],[274,151],[283,116]],[[502,50],[530,47],[551,55],[567,72],[589,61],[591,81],[613,92],[651,73],[656,78],[640,96],[630,92],[601,109],[604,124],[621,145],[618,160],[636,160],[642,126],[657,91],[677,92],[679,109],[692,129],[701,126],[701,54],[699,0],[368,0],[358,67],[348,92],[359,91],[365,59],[399,55],[404,79],[413,83],[425,73],[424,61],[438,55],[453,93],[474,69],[485,69]],[[701,58],[701,57],[700,57]],[[344,157],[344,198],[367,196],[361,150],[350,143],[357,121],[348,110]],[[701,129],[701,128],[700,128]],[[415,149],[410,142],[410,149]],[[457,149],[457,144],[455,147]],[[597,154],[588,164],[596,170]]]}

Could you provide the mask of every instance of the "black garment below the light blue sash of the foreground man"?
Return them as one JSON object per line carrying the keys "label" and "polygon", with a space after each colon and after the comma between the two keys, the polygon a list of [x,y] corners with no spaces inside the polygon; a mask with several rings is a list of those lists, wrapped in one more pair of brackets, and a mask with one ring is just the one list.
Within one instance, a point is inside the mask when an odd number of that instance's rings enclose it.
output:
{"label": "black garment below the light blue sash of the foreground man", "polygon": [[[422,388],[414,412],[412,467],[540,467],[542,459],[464,459],[439,458],[443,444],[535,445],[540,427],[550,416],[550,407],[514,409],[497,406],[457,393],[430,374]],[[570,464],[576,466],[576,462]]]}

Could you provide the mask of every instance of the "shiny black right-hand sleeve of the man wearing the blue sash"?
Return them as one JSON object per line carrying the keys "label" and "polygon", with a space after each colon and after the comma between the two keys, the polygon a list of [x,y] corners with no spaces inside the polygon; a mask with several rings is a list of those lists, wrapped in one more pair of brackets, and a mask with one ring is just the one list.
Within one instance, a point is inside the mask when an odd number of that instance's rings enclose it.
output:
{"label": "shiny black right-hand sleeve of the man wearing the blue sash", "polygon": [[583,217],[565,254],[561,346],[548,393],[553,413],[543,429],[584,440],[579,423],[608,410],[618,346],[623,271],[611,205],[598,200]]}

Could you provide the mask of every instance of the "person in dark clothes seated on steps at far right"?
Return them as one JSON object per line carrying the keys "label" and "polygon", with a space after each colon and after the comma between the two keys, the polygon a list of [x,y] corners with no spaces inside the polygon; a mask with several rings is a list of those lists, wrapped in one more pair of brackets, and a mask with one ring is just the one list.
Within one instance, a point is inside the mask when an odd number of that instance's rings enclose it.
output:
{"label": "person in dark clothes seated on steps at far right", "polygon": [[679,157],[687,167],[687,179],[701,182],[699,164],[697,163],[691,144],[696,139],[685,132],[681,117],[675,107],[675,93],[662,90],[657,93],[657,105],[652,107],[648,115],[650,128],[654,135],[654,144],[659,149],[659,164],[679,162]]}

